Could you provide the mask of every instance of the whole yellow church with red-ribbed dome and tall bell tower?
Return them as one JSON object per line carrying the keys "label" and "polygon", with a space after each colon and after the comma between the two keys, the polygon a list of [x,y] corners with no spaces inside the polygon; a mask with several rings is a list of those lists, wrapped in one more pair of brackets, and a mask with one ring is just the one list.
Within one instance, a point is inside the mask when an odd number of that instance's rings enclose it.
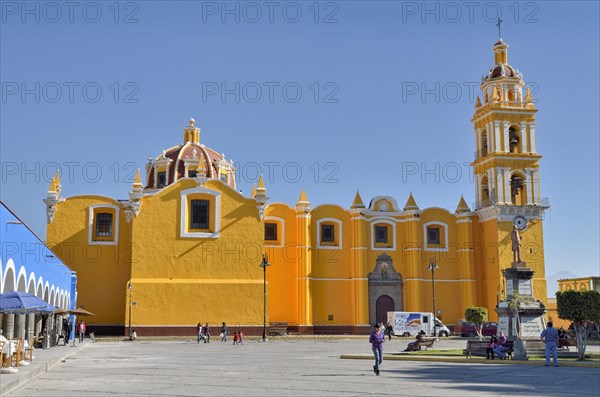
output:
{"label": "whole yellow church with red-ribbed dome and tall bell tower", "polygon": [[63,198],[58,176],[44,202],[47,240],[78,276],[78,304],[95,313],[96,333],[190,335],[199,321],[222,321],[260,334],[263,254],[267,322],[289,330],[355,332],[387,311],[433,311],[446,323],[484,306],[492,320],[504,298],[502,269],[513,261],[511,230],[535,271],[545,302],[536,151],[537,110],[521,74],[495,43],[472,118],[475,208],[420,208],[407,192],[368,205],[357,192],[340,205],[315,205],[302,191],[293,205],[269,203],[260,179],[250,196],[236,190],[231,160],[201,143],[190,120],[183,142],[140,172],[126,200]]}

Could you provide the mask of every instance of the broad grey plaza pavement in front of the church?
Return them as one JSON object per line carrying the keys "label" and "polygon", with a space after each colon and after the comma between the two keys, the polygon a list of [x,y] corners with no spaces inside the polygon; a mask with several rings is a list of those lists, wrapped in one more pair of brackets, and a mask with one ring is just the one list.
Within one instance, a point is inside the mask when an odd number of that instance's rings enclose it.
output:
{"label": "broad grey plaza pavement in front of the church", "polygon": [[[559,368],[516,362],[480,364],[384,360],[381,376],[372,360],[342,355],[370,353],[367,338],[280,338],[233,346],[178,341],[103,341],[58,347],[73,354],[7,396],[598,396],[598,366]],[[394,339],[386,352],[399,352]],[[464,347],[444,341],[439,349]],[[597,347],[595,347],[597,348]],[[63,349],[56,350],[56,349]],[[593,349],[596,350],[596,349]],[[56,359],[56,357],[55,357]],[[37,358],[36,358],[37,360]],[[34,360],[35,362],[35,360]],[[530,363],[532,364],[532,363]],[[32,364],[33,365],[33,364]],[[30,366],[31,367],[31,366]],[[2,375],[0,382],[8,375]],[[4,389],[4,387],[3,387]]]}

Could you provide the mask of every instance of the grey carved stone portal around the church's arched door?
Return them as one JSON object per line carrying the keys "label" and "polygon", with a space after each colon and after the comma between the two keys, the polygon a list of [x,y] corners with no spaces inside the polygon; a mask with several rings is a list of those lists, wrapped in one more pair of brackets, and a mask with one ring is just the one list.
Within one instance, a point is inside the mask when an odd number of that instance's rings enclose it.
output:
{"label": "grey carved stone portal around the church's arched door", "polygon": [[388,311],[404,309],[402,275],[396,271],[392,258],[383,253],[377,257],[369,279],[369,323],[387,322]]}

